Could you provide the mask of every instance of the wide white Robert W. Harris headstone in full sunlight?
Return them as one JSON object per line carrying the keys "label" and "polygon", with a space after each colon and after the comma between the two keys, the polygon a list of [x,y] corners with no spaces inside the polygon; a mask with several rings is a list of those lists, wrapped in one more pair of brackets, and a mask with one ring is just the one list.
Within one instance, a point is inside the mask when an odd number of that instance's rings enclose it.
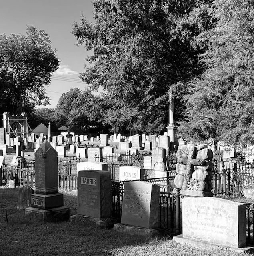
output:
{"label": "wide white Robert W. Harris headstone in full sunlight", "polygon": [[[222,198],[182,199],[182,235],[173,238],[184,244],[246,246],[246,205]],[[202,243],[203,242],[203,243]]]}

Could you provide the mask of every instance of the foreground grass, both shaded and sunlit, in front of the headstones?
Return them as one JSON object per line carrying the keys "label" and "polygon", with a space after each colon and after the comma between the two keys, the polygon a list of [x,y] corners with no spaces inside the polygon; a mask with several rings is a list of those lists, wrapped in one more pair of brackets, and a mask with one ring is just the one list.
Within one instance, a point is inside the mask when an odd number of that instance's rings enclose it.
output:
{"label": "foreground grass, both shaded and sunlit, in front of the headstones", "polygon": [[[218,247],[182,246],[171,236],[144,238],[102,229],[89,220],[44,223],[17,210],[18,188],[0,187],[0,255],[249,255]],[[77,197],[64,192],[64,205],[77,212]],[[8,224],[5,209],[7,210]]]}

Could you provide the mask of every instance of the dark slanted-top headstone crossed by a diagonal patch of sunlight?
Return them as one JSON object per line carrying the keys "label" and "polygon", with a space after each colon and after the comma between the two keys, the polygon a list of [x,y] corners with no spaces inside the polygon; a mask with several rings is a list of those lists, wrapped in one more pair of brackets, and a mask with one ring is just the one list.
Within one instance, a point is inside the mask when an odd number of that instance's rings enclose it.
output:
{"label": "dark slanted-top headstone crossed by a diagonal patch of sunlight", "polygon": [[146,181],[124,184],[121,223],[143,228],[158,228],[160,186]]}

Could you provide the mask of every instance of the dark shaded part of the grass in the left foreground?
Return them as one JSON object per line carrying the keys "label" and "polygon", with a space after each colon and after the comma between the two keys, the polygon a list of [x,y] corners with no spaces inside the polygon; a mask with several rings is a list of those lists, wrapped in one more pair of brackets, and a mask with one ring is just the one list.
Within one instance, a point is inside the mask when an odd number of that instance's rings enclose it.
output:
{"label": "dark shaded part of the grass in the left foreground", "polygon": [[[102,229],[87,218],[43,222],[34,215],[25,215],[24,209],[18,210],[17,199],[18,188],[0,189],[2,255],[113,255],[112,250],[116,248],[127,250],[156,239]],[[64,205],[76,214],[77,196],[64,193]]]}

